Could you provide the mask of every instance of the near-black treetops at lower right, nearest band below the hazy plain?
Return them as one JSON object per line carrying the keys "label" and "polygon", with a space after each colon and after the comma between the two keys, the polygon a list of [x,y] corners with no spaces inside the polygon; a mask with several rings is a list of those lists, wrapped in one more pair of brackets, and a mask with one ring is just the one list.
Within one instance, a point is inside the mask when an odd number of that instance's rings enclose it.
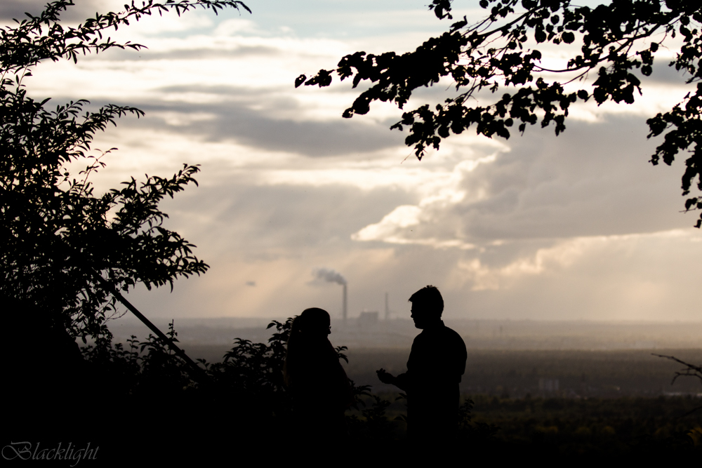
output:
{"label": "near-black treetops at lower right, nearest band below the hazy plain", "polygon": [[[392,402],[385,408],[390,420],[402,420],[406,400],[400,394],[388,392],[378,397]],[[494,437],[503,443],[549,443],[559,451],[573,453],[622,452],[644,441],[684,441],[689,434],[702,448],[702,410],[694,411],[702,406],[702,399],[691,396],[614,399],[461,396],[462,402],[469,399],[474,403],[472,422],[499,427]],[[404,434],[404,430],[402,422],[396,423],[397,434]]]}

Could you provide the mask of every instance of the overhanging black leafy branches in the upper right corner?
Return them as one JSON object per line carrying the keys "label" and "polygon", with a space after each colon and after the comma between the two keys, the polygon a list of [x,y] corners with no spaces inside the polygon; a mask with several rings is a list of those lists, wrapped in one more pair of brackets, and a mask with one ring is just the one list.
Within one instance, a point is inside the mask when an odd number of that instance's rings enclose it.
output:
{"label": "overhanging black leafy branches in the upper right corner", "polygon": [[[452,19],[451,3],[433,0],[429,8],[437,18]],[[296,86],[329,86],[333,74],[341,80],[352,78],[354,88],[368,81],[369,88],[343,112],[349,118],[369,112],[373,101],[394,102],[402,109],[417,88],[442,79],[453,81],[456,95],[444,104],[404,112],[391,127],[409,128],[406,145],[422,159],[429,148],[439,149],[442,139],[473,125],[479,134],[509,138],[512,126],[523,133],[527,124],[541,121],[542,127],[554,123],[558,135],[575,102],[594,98],[598,105],[608,100],[631,104],[641,93],[637,74],[649,76],[656,51],[676,36],[682,46],[670,66],[686,73],[688,83],[702,79],[702,5],[696,0],[612,0],[595,8],[576,6],[571,0],[480,0],[479,5],[486,18],[469,23],[464,17],[415,51],[346,55],[336,69],[320,70],[309,79],[300,75]],[[528,41],[554,45],[577,41],[581,53],[560,69],[548,69],[541,65],[541,51],[529,49]],[[542,72],[566,77],[548,81]],[[591,91],[566,91],[567,83],[595,73]],[[484,89],[501,97],[481,106],[478,93]],[[668,131],[651,163],[663,159],[670,165],[679,152],[694,147],[682,176],[684,196],[695,182],[702,190],[701,98],[698,87],[670,112],[648,121],[649,138]],[[702,208],[702,197],[687,199],[685,208]],[[702,219],[697,227],[701,225]]]}

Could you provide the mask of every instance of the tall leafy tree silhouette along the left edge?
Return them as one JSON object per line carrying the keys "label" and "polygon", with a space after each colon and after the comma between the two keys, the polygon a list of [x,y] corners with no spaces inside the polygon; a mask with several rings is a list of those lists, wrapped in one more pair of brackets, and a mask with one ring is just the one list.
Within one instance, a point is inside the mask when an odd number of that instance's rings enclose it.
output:
{"label": "tall leafy tree silhouette along the left edge", "polygon": [[[158,208],[165,196],[197,183],[198,168],[184,165],[172,178],[132,178],[96,195],[88,176],[104,166],[100,158],[112,149],[91,149],[95,134],[121,116],[144,113],[118,105],[83,113],[86,100],[51,108],[48,98],[31,98],[24,81],[42,61],[76,62],[80,54],[143,48],[105,37],[108,29],[143,15],[248,8],[234,0],[149,0],[64,27],[61,14],[71,6],[70,0],[53,1],[39,15],[0,28],[0,293],[51,311],[55,326],[86,340],[108,334],[105,318],[115,312],[115,298],[97,275],[126,291],[135,283],[173,287],[178,276],[208,268],[191,243],[163,227],[167,215]],[[78,175],[68,171],[81,163],[86,169]]]}

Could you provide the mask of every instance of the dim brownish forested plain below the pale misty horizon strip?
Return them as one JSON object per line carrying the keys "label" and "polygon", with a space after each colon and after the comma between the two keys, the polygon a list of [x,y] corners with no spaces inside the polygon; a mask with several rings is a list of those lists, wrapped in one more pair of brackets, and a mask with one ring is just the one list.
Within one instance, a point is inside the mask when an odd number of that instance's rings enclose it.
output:
{"label": "dim brownish forested plain below the pale misty horizon strip", "polygon": [[[517,398],[527,395],[616,398],[702,392],[700,382],[690,377],[681,377],[675,385],[670,385],[673,373],[681,366],[652,353],[673,354],[683,361],[702,363],[702,349],[468,349],[461,392]],[[359,384],[373,385],[376,391],[392,391],[391,387],[378,382],[375,370],[382,367],[389,372],[401,372],[406,366],[407,354],[404,349],[349,349],[347,373]],[[544,389],[544,380],[557,380],[558,389]]]}

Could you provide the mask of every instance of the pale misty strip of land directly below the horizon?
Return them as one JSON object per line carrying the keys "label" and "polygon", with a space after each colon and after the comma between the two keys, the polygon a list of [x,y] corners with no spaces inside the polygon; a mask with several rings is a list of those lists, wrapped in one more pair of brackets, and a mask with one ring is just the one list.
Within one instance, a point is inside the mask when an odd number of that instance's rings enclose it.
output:
{"label": "pale misty strip of land directly below the horizon", "polygon": [[[272,320],[286,317],[176,319],[178,340],[187,345],[222,345],[228,349],[234,338],[265,341]],[[161,329],[169,321],[154,319]],[[702,322],[644,321],[541,321],[541,320],[450,320],[468,349],[684,349],[702,348]],[[124,342],[131,335],[141,337],[147,328],[126,315],[108,322],[114,339]],[[409,318],[383,320],[375,313],[352,317],[347,323],[332,319],[329,339],[349,348],[409,348],[419,330]]]}

